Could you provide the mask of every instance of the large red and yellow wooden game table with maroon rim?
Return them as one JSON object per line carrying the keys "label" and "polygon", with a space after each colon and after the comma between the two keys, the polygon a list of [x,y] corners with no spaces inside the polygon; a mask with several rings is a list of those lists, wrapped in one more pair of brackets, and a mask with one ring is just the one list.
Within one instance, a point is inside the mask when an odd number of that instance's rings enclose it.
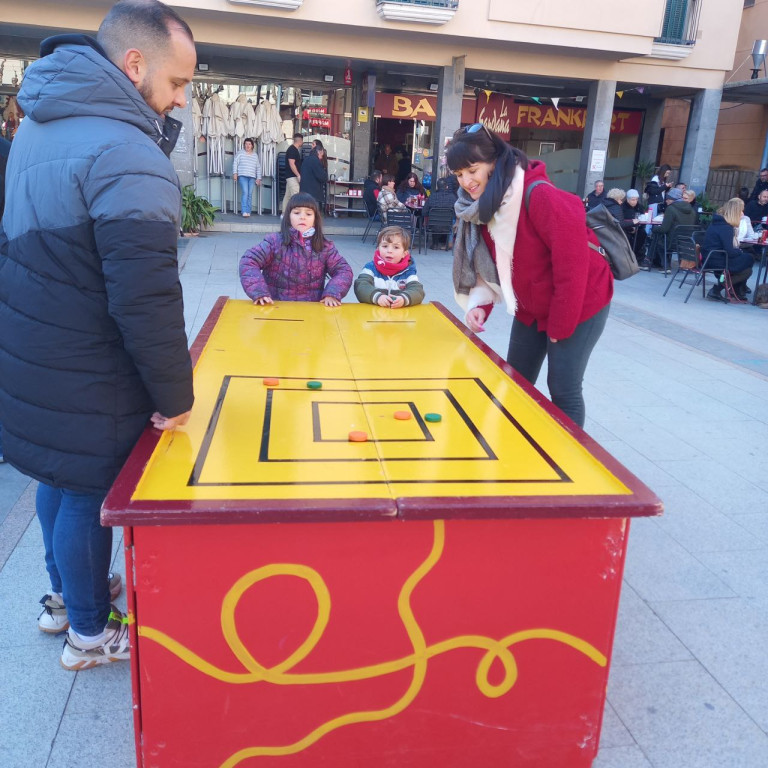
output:
{"label": "large red and yellow wooden game table with maroon rim", "polygon": [[590,766],[654,494],[438,304],[222,298],[192,353],[102,512],[138,765]]}

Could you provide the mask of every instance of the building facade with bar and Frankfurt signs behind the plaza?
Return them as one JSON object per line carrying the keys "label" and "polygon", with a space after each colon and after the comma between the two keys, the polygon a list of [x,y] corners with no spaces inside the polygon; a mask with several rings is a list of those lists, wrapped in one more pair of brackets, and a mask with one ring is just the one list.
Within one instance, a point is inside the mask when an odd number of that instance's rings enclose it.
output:
{"label": "building facade with bar and Frankfurt signs behind the plaza", "polygon": [[[93,33],[110,5],[6,0],[0,58],[28,62],[51,34]],[[237,101],[254,111],[269,104],[282,127],[278,154],[294,132],[324,139],[338,178],[367,175],[385,143],[409,157],[419,175],[441,175],[447,139],[480,121],[529,156],[544,158],[558,186],[583,194],[602,177],[626,188],[638,160],[658,160],[664,103],[677,97],[695,112],[682,163],[691,185],[703,185],[741,0],[648,0],[640,16],[620,4],[552,0],[542,18],[535,5],[174,3],[198,49],[191,89],[198,103],[182,115],[189,138],[174,163],[182,179],[213,202],[234,197],[228,174],[242,135],[233,129],[224,136],[223,163],[212,166],[213,145],[193,114],[215,97],[229,112]],[[6,87],[3,99],[13,90]]]}

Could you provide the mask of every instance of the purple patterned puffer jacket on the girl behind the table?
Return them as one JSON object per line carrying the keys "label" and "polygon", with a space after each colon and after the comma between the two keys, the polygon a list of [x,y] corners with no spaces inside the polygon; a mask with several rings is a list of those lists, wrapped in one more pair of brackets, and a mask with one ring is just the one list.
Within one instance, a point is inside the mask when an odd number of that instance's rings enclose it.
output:
{"label": "purple patterned puffer jacket on the girl behind the table", "polygon": [[[326,275],[330,276],[328,284]],[[313,253],[310,240],[291,229],[291,242],[283,245],[279,232],[267,235],[240,258],[240,282],[252,300],[269,296],[275,301],[343,299],[352,285],[352,268],[330,241]]]}

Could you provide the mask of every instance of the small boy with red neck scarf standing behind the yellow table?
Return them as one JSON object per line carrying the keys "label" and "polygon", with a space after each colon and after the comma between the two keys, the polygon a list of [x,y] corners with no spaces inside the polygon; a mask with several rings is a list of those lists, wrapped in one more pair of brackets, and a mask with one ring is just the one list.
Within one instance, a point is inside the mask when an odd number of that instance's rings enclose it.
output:
{"label": "small boy with red neck scarf standing behind the yellow table", "polygon": [[400,307],[421,304],[424,286],[408,249],[411,236],[402,227],[384,227],[376,240],[376,253],[355,280],[355,296],[364,304]]}

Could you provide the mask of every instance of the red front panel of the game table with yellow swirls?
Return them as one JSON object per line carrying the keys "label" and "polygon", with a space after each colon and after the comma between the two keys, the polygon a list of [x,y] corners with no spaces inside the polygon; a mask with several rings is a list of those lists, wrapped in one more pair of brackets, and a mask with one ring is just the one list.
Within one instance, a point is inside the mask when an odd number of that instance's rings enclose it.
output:
{"label": "red front panel of the game table with yellow swirls", "polygon": [[[135,528],[141,768],[588,768],[628,522],[448,521],[434,557],[440,526]],[[326,604],[316,642],[281,668]],[[489,682],[515,679],[492,698],[476,675],[494,641],[510,655]]]}

